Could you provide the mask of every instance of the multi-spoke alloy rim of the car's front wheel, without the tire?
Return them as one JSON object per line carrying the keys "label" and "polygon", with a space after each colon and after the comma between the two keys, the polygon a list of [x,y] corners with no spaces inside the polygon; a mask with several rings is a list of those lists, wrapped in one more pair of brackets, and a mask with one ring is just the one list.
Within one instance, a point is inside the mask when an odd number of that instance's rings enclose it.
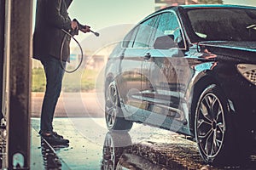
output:
{"label": "multi-spoke alloy rim of the car's front wheel, without the tire", "polygon": [[195,136],[201,154],[208,160],[218,155],[224,144],[224,109],[215,94],[206,94],[196,110]]}

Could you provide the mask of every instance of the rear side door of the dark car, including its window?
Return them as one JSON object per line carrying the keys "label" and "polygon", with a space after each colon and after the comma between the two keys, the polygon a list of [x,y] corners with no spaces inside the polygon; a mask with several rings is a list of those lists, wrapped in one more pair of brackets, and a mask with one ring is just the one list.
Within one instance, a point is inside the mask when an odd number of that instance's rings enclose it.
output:
{"label": "rear side door of the dark car, including its window", "polygon": [[[144,81],[147,81],[148,71],[143,70],[143,63],[148,52],[150,37],[154,31],[155,18],[150,18],[136,26],[125,38],[125,51],[120,63],[120,79],[122,88],[120,96],[125,111],[130,116],[140,116],[143,121],[143,91]],[[143,83],[142,83],[143,82]]]}

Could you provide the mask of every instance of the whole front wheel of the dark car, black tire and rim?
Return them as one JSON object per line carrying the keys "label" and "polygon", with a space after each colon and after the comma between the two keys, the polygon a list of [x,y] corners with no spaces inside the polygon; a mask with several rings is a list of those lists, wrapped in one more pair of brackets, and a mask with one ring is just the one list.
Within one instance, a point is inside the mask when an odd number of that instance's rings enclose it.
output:
{"label": "whole front wheel of the dark car, black tire and rim", "polygon": [[208,86],[195,109],[195,140],[201,157],[213,165],[237,165],[244,161],[230,121],[228,100],[217,85]]}

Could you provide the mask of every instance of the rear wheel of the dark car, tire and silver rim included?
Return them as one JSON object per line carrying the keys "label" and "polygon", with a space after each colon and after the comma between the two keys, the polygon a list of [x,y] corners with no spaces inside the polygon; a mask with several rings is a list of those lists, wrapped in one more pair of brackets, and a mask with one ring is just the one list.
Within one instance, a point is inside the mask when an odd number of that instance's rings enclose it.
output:
{"label": "rear wheel of the dark car, tire and silver rim included", "polygon": [[108,130],[125,130],[129,131],[132,122],[125,120],[120,108],[119,93],[115,82],[110,82],[105,91],[105,119]]}

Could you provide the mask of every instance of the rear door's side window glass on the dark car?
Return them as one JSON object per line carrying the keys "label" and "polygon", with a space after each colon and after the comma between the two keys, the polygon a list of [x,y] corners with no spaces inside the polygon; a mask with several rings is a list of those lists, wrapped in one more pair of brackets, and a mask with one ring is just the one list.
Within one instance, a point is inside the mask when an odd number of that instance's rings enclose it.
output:
{"label": "rear door's side window glass on the dark car", "polygon": [[155,22],[157,16],[154,16],[138,26],[137,36],[133,43],[133,48],[149,48],[151,35],[156,31]]}

